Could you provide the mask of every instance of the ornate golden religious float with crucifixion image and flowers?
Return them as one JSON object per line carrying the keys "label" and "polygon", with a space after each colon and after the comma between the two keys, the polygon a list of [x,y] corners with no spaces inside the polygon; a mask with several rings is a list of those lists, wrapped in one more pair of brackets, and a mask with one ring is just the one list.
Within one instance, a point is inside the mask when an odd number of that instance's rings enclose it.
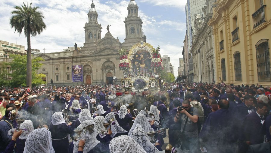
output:
{"label": "ornate golden religious float with crucifixion image and flowers", "polygon": [[[120,50],[119,68],[123,71],[121,84],[123,91],[143,91],[160,89],[160,71],[164,69],[159,46],[141,41],[128,49]],[[117,79],[117,78],[116,78]]]}

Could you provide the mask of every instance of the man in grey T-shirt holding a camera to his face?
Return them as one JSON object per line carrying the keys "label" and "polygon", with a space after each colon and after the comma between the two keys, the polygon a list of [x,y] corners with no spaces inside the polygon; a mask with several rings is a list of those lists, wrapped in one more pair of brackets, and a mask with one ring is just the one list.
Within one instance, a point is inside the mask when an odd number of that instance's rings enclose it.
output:
{"label": "man in grey T-shirt holding a camera to his face", "polygon": [[198,109],[191,107],[189,100],[184,100],[181,107],[177,107],[174,122],[181,122],[181,132],[175,135],[175,140],[182,144],[182,149],[190,152],[198,151]]}

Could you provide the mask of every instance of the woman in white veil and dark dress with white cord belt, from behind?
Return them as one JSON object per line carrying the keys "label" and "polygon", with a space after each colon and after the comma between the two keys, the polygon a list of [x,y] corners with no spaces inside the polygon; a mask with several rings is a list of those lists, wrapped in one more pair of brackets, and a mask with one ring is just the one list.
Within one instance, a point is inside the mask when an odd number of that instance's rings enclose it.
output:
{"label": "woman in white veil and dark dress with white cord belt, from behind", "polygon": [[49,131],[52,135],[52,145],[56,153],[68,152],[69,139],[68,134],[73,133],[73,128],[65,123],[62,112],[55,112],[52,116],[52,122],[49,125]]}

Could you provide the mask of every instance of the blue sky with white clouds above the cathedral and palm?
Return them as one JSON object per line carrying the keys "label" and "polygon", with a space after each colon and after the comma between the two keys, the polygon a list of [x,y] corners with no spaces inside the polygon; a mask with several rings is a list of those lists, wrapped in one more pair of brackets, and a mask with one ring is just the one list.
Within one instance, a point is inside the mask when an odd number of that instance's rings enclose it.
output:
{"label": "blue sky with white clouds above the cathedral and palm", "polygon": [[[94,0],[99,14],[98,23],[102,25],[102,38],[106,33],[107,24],[111,24],[110,32],[120,42],[124,42],[124,18],[128,15],[127,6],[130,0]],[[179,58],[182,57],[182,46],[186,31],[185,3],[186,0],[135,0],[139,7],[144,34],[147,43],[156,48],[160,46],[160,54],[170,56],[177,75]],[[26,1],[25,1],[26,2]],[[31,48],[45,48],[45,52],[59,52],[71,47],[74,43],[83,46],[85,42],[84,25],[88,21],[87,13],[91,0],[32,0],[44,13],[47,29],[36,38],[31,38]],[[17,43],[27,49],[24,35],[14,33],[9,25],[10,12],[23,1],[0,1],[0,40]]]}

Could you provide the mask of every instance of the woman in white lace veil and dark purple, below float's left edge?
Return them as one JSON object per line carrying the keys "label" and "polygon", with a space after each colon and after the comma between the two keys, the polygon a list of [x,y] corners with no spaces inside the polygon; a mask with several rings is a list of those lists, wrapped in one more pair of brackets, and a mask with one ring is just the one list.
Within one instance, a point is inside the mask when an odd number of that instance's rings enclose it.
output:
{"label": "woman in white lace veil and dark purple, below float's left edge", "polygon": [[127,107],[125,105],[122,105],[120,107],[120,110],[118,114],[116,115],[116,119],[124,130],[129,131],[130,130],[130,122],[132,121],[133,117],[130,113],[130,110],[127,110]]}

